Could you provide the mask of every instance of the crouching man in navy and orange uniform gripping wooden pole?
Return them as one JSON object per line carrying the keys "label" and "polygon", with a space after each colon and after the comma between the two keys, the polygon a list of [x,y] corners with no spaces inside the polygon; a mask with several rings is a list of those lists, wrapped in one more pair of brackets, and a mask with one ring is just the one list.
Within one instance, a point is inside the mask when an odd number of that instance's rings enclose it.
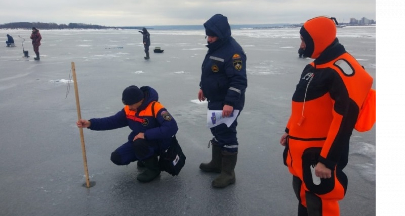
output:
{"label": "crouching man in navy and orange uniform gripping wooden pole", "polygon": [[171,145],[179,129],[175,119],[158,102],[158,92],[149,86],[129,86],[122,92],[124,108],[104,118],[81,119],[79,128],[113,130],[128,126],[132,132],[128,141],[111,153],[111,161],[119,166],[138,161],[145,171],[137,176],[141,182],[150,182],[160,174],[158,155]]}

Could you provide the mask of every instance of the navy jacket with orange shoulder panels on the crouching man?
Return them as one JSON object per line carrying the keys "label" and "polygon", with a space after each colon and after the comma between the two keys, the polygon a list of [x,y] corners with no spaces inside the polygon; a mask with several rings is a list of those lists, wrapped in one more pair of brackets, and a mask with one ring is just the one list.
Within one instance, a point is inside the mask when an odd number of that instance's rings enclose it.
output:
{"label": "navy jacket with orange shoulder panels on the crouching man", "polygon": [[177,123],[166,108],[158,102],[153,105],[155,113],[153,116],[150,108],[153,101],[158,101],[158,92],[149,86],[143,86],[140,89],[145,98],[136,112],[124,107],[110,117],[92,118],[89,129],[113,130],[129,126],[132,132],[128,135],[128,142],[132,142],[137,134],[144,132],[148,142],[157,143],[162,150],[166,150],[171,143],[171,137],[177,133]]}

